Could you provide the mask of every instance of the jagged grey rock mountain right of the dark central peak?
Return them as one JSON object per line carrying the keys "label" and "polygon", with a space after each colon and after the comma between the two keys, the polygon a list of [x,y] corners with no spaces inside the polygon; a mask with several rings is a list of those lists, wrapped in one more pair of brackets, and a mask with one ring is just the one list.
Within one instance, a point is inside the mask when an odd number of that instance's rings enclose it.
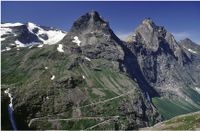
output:
{"label": "jagged grey rock mountain right of the dark central peak", "polygon": [[182,97],[180,89],[195,83],[188,68],[192,65],[191,57],[171,33],[151,19],[139,25],[128,37],[126,46],[136,56],[146,81],[160,95]]}

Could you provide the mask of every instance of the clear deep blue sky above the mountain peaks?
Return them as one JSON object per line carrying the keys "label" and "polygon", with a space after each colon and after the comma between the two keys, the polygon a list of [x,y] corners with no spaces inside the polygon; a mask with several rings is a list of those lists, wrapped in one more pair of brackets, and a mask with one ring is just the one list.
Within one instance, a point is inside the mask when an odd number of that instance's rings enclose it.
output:
{"label": "clear deep blue sky above the mountain peaks", "polygon": [[200,44],[200,2],[2,2],[2,22],[33,22],[68,31],[88,11],[96,10],[121,38],[150,17],[173,33],[177,40],[189,37]]}

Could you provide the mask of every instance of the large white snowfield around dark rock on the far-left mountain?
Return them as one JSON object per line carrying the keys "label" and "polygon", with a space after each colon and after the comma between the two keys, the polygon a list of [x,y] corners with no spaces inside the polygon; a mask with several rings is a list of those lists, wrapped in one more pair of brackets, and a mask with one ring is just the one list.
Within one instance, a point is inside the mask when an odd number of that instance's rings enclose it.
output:
{"label": "large white snowfield around dark rock on the far-left mountain", "polygon": [[[22,23],[4,23],[1,24],[1,41],[4,41],[7,36],[6,35],[14,35],[17,36],[17,34],[13,31],[14,27],[18,27],[18,26],[23,26],[26,25],[28,31],[34,35],[37,36],[37,38],[41,41],[41,42],[30,42],[30,43],[23,43],[21,41],[19,41],[18,39],[16,39],[15,43],[16,45],[18,45],[18,47],[27,47],[30,45],[35,45],[35,44],[56,44],[57,42],[59,42],[60,40],[62,40],[64,38],[64,36],[66,35],[66,32],[63,32],[61,30],[57,30],[54,28],[48,28],[46,29],[45,27],[40,27],[34,23],[28,22],[27,24],[22,24]],[[23,29],[23,28],[22,28]],[[18,30],[20,30],[20,27],[18,28]],[[2,37],[3,35],[5,35],[5,37]]]}

